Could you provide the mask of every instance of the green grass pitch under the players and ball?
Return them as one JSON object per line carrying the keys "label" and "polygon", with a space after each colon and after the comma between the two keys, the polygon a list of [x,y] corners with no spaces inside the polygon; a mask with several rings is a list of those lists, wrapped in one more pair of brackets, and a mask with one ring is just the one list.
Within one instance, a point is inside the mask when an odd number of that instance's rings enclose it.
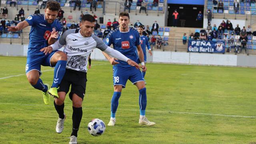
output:
{"label": "green grass pitch under the players and ball", "polygon": [[[65,100],[64,131],[57,134],[53,102],[44,105],[42,92],[26,79],[25,65],[25,57],[0,56],[0,143],[68,144],[70,99]],[[147,68],[146,116],[156,125],[138,124],[138,90],[128,81],[119,100],[116,126],[106,126],[102,136],[94,137],[87,132],[87,124],[93,118],[108,123],[113,86],[110,63],[92,61],[79,144],[255,144],[255,68],[152,63]],[[52,68],[42,67],[42,71],[43,82],[52,84]]]}

